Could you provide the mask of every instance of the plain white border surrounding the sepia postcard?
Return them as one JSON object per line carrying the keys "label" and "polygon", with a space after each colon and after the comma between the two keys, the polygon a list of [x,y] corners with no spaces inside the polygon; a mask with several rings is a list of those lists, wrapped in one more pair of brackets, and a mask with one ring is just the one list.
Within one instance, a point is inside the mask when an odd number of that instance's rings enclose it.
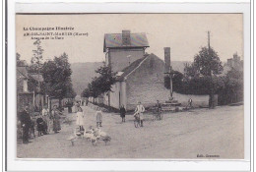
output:
{"label": "plain white border surrounding the sepia postcard", "polygon": [[[29,3],[29,1],[8,1],[8,170],[9,171],[249,171],[250,170],[250,5],[239,3]],[[22,4],[25,2],[26,4]],[[36,1],[35,1],[36,2]],[[39,2],[39,1],[37,1]],[[48,1],[49,2],[49,1]],[[53,2],[53,1],[51,1]],[[57,1],[60,2],[60,1]],[[16,67],[15,61],[15,13],[243,13],[244,18],[244,160],[196,160],[169,159],[164,161],[125,161],[109,159],[88,161],[87,159],[32,159],[16,158]],[[12,58],[13,57],[13,58]]]}

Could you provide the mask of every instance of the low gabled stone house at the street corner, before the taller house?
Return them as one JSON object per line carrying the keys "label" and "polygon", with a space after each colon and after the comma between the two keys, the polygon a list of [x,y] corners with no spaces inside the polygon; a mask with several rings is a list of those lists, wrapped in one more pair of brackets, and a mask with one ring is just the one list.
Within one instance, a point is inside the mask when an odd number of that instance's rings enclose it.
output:
{"label": "low gabled stone house at the street corner, before the taller house", "polygon": [[155,54],[146,54],[126,67],[117,77],[117,83],[109,92],[110,106],[135,109],[141,101],[145,107],[153,106],[157,100],[168,99],[168,89],[164,87],[164,62]]}

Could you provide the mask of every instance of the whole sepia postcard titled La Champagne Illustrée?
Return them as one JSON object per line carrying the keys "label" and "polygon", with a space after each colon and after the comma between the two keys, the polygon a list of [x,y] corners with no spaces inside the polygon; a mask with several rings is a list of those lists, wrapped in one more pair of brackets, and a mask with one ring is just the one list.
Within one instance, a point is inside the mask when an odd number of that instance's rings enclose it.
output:
{"label": "whole sepia postcard titled La Champagne Illustr\u00e9e", "polygon": [[244,159],[243,14],[16,14],[17,158]]}

